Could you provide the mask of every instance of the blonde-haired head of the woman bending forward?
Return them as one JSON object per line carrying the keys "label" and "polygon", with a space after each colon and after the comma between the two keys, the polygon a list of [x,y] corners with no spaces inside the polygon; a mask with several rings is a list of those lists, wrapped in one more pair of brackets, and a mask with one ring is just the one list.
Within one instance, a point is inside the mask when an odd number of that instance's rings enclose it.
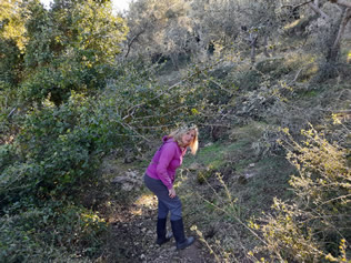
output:
{"label": "blonde-haired head of the woman bending forward", "polygon": [[199,131],[197,125],[190,124],[181,127],[171,132],[169,136],[173,138],[180,146],[190,146],[192,154],[197,153],[199,146]]}

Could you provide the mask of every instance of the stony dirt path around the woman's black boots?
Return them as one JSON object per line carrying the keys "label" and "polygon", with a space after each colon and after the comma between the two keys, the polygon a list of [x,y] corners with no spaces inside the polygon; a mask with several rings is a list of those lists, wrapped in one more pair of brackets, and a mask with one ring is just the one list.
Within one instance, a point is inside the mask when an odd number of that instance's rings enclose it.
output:
{"label": "stony dirt path around the woman's black boots", "polygon": [[[109,256],[108,262],[126,263],[163,263],[163,262],[214,262],[200,241],[185,250],[177,251],[174,239],[163,244],[156,242],[157,199],[152,195],[141,196],[128,208],[120,208],[110,219],[110,251],[114,256]],[[187,225],[185,225],[187,227]],[[168,222],[168,230],[170,224]],[[187,227],[187,234],[193,235]]]}

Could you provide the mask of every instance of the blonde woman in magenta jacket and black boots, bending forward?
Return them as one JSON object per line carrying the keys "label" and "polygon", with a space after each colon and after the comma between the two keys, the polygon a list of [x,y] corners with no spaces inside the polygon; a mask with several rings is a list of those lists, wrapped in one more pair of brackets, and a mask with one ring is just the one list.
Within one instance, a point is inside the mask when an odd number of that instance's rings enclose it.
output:
{"label": "blonde woman in magenta jacket and black boots, bending forward", "polygon": [[176,194],[173,182],[176,170],[181,165],[182,159],[189,146],[192,154],[198,150],[198,128],[188,125],[163,136],[163,144],[156,152],[149,164],[144,183],[158,196],[157,243],[168,242],[172,236],[167,236],[166,224],[168,213],[171,213],[171,226],[178,250],[183,250],[194,242],[194,237],[185,237],[181,213],[181,202]]}

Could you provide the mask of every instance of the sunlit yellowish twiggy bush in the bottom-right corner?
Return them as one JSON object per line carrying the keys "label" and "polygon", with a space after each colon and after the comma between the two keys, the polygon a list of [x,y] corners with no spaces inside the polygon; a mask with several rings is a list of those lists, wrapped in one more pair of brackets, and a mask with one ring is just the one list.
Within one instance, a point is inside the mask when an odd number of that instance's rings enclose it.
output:
{"label": "sunlit yellowish twiggy bush in the bottom-right corner", "polygon": [[257,252],[288,262],[345,262],[345,241],[351,239],[347,150],[328,142],[313,128],[302,130],[307,138],[302,143],[285,132],[289,140],[282,144],[299,171],[299,176],[290,180],[297,198],[290,204],[275,199],[275,213],[259,220],[265,224],[251,222],[264,236],[264,245]]}

